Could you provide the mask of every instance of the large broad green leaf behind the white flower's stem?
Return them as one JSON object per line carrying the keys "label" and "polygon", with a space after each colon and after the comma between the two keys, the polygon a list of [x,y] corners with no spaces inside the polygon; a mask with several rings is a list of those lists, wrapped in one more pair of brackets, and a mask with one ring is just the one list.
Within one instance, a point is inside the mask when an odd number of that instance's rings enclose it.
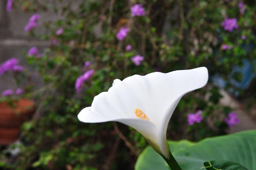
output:
{"label": "large broad green leaf behind the white flower's stem", "polygon": [[[199,170],[207,161],[234,161],[249,170],[256,170],[256,130],[207,138],[198,143],[168,142],[182,170]],[[136,170],[170,169],[150,146],[139,156]]]}

